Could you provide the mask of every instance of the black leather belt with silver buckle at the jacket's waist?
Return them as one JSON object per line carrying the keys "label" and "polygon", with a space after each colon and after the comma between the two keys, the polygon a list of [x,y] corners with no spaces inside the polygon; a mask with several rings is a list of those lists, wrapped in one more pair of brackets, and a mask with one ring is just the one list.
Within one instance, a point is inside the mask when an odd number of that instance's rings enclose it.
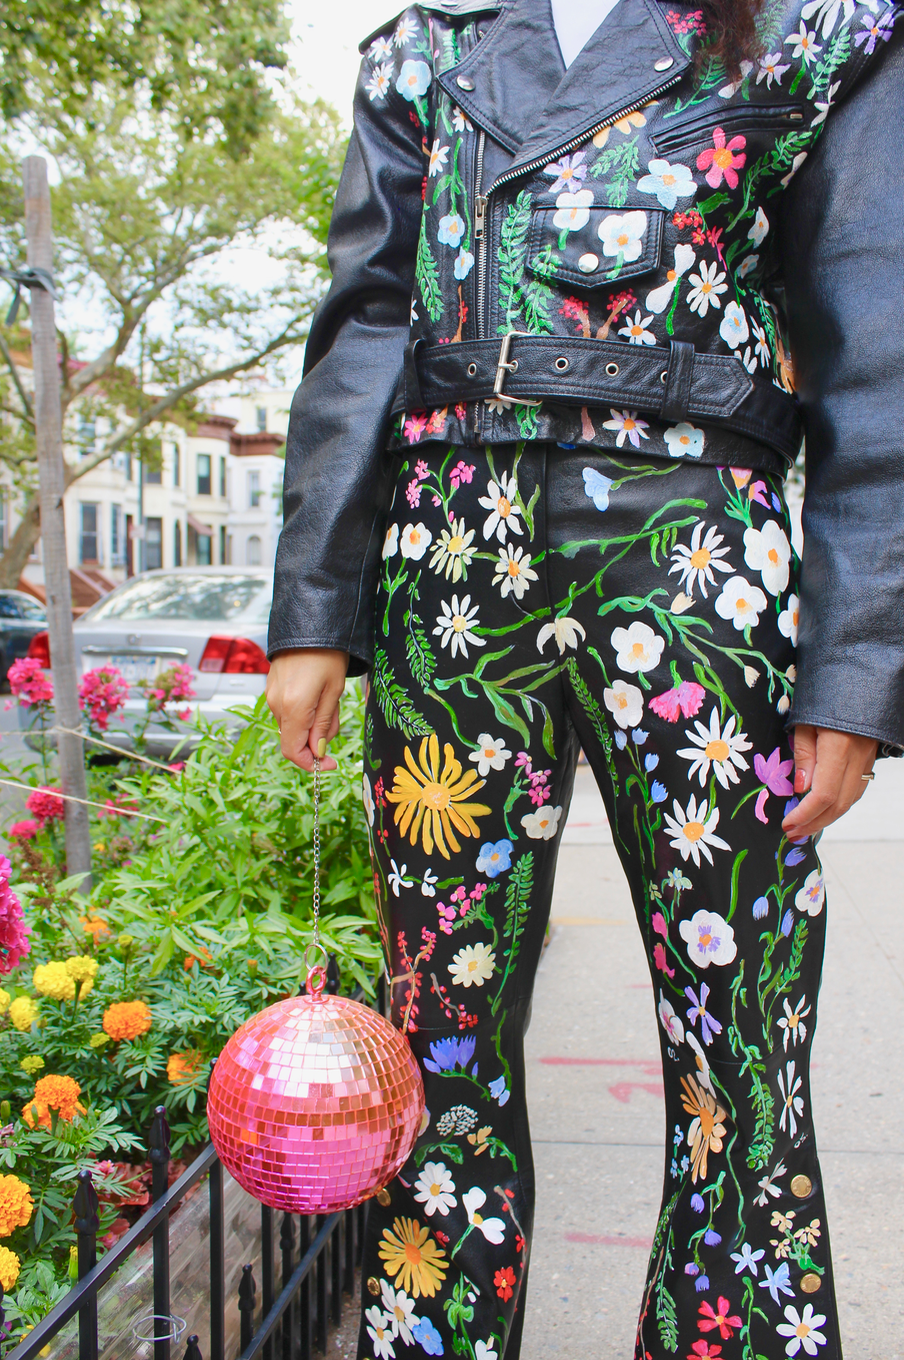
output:
{"label": "black leather belt with silver buckle at the jacket's waist", "polygon": [[697,354],[684,340],[661,350],[510,332],[500,340],[408,345],[393,413],[481,398],[633,407],[663,420],[711,420],[769,445],[790,462],[803,437],[794,397],[772,382],[754,382],[738,359]]}

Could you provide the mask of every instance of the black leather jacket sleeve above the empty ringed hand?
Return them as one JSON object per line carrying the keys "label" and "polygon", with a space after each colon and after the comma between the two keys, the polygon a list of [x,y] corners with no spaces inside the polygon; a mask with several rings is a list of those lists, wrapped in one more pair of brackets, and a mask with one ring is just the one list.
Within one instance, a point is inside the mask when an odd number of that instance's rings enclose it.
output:
{"label": "black leather jacket sleeve above the empty ringed hand", "polygon": [[787,190],[780,258],[806,428],[788,724],[904,747],[904,22]]}

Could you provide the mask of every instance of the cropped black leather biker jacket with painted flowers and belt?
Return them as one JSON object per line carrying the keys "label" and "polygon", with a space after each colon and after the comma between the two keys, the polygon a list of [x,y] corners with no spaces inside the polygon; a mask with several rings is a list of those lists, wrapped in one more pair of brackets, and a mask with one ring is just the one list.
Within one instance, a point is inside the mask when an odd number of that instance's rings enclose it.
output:
{"label": "cropped black leather biker jacket with painted flowers and belt", "polygon": [[370,664],[415,445],[782,476],[806,438],[790,722],[904,747],[899,12],[771,0],[740,79],[695,64],[700,11],[674,0],[620,0],[567,71],[544,0],[431,0],[366,41],[271,654]]}

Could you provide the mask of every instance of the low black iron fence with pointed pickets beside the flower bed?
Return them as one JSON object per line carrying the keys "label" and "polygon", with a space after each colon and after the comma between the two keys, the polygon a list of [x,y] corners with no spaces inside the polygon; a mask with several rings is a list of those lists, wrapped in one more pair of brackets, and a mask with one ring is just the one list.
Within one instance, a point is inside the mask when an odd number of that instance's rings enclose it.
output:
{"label": "low black iron fence with pointed pickets beside the flower bed", "polygon": [[[306,1216],[283,1213],[275,1250],[275,1210],[261,1205],[261,1263],[258,1281],[251,1265],[242,1268],[238,1285],[239,1349],[227,1355],[226,1210],[223,1166],[212,1144],[169,1186],[170,1145],[166,1111],[159,1106],[151,1126],[148,1153],[152,1167],[151,1206],[116,1246],[98,1261],[98,1195],[91,1172],[82,1171],[72,1209],[77,1242],[77,1284],[29,1336],[0,1356],[38,1360],[63,1329],[79,1319],[79,1360],[98,1360],[98,1295],[103,1285],[145,1242],[152,1239],[154,1310],[133,1330],[136,1341],[152,1345],[154,1360],[310,1360],[326,1350],[330,1321],[338,1325],[344,1293],[355,1288],[360,1255],[363,1209]],[[170,1214],[193,1186],[208,1179],[209,1194],[209,1352],[203,1353],[190,1322],[175,1318],[170,1304]],[[279,1266],[276,1254],[279,1254]],[[207,1300],[205,1300],[207,1302]],[[0,1337],[3,1289],[0,1288]],[[185,1338],[185,1340],[184,1340]],[[182,1345],[185,1349],[182,1350]],[[126,1360],[117,1356],[117,1360]]]}

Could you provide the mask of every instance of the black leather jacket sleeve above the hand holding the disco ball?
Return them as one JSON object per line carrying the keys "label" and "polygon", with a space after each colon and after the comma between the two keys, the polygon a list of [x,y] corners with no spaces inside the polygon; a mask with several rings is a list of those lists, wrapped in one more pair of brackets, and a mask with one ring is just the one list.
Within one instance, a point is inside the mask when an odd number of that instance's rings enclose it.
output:
{"label": "black leather jacket sleeve above the hand holding the disco ball", "polygon": [[351,654],[349,675],[372,657],[393,487],[389,409],[411,324],[424,175],[411,107],[366,57],[330,223],[332,286],[314,316],[285,447],[268,653],[337,647]]}

